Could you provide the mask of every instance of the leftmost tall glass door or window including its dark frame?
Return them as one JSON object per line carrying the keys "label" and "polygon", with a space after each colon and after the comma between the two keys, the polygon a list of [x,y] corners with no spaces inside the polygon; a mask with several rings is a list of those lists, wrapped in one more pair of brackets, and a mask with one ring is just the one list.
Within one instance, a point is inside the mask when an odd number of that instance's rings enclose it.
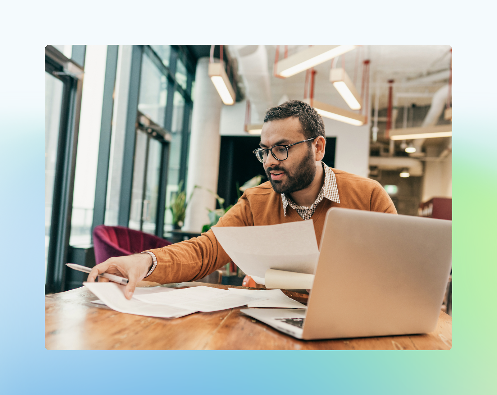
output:
{"label": "leftmost tall glass door or window including its dark frame", "polygon": [[48,45],[45,72],[45,293],[50,293],[65,287],[83,70]]}

